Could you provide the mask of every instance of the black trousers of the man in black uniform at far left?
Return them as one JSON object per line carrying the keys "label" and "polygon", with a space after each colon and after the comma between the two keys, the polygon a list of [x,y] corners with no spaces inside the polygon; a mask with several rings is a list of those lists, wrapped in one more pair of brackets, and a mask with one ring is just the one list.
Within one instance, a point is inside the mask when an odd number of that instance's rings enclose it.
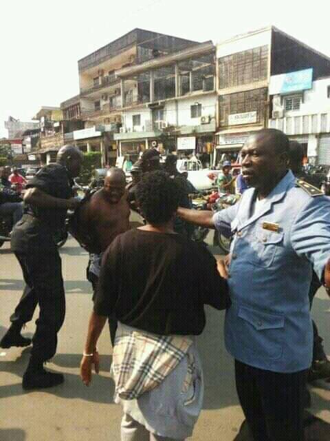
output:
{"label": "black trousers of the man in black uniform at far left", "polygon": [[10,321],[23,325],[32,320],[36,305],[39,305],[31,355],[43,362],[56,353],[57,333],[65,317],[61,257],[56,247],[43,253],[33,249],[24,254],[15,252],[15,256],[21,265],[26,287]]}

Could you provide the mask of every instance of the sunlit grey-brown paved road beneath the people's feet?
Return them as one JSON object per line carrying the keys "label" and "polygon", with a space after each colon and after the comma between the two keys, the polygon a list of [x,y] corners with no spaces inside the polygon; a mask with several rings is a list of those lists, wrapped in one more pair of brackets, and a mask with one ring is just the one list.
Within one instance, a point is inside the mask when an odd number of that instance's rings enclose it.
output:
{"label": "sunlit grey-brown paved road beneath the people's feet", "polygon": [[[91,311],[91,287],[85,281],[87,253],[74,240],[61,250],[67,293],[67,315],[61,329],[58,351],[47,366],[65,373],[65,384],[48,391],[27,393],[21,376],[29,350],[0,349],[0,441],[119,441],[121,409],[112,403],[113,383],[109,378],[111,345],[107,329],[100,338],[101,370],[90,387],[78,375],[78,365]],[[41,256],[42,259],[42,256]],[[8,245],[0,249],[0,337],[21,296],[21,270]],[[314,316],[330,354],[330,300],[320,290],[314,302]],[[233,363],[223,346],[223,312],[207,308],[208,325],[199,338],[206,378],[203,412],[191,438],[193,441],[232,441],[243,420],[236,398]],[[34,322],[28,323],[32,336]],[[312,389],[311,411],[330,422],[330,384]],[[330,433],[330,431],[328,432]],[[326,438],[325,438],[326,439]]]}

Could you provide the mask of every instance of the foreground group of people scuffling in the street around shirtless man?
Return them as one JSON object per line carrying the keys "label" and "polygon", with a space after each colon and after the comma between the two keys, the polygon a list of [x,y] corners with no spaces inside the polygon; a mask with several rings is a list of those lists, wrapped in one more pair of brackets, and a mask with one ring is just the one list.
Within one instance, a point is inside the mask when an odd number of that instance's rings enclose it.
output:
{"label": "foreground group of people scuffling in the street around shirtless man", "polygon": [[[91,254],[87,276],[94,291],[80,375],[88,385],[92,368],[98,372],[97,342],[109,320],[121,439],[185,440],[192,434],[203,402],[195,339],[206,324],[203,305],[211,305],[225,310],[225,346],[252,438],[305,440],[307,378],[311,367],[320,371],[329,363],[324,351],[320,359],[315,355],[320,337],[310,308],[320,285],[330,291],[330,201],[294,176],[289,139],[279,130],[250,136],[241,158],[246,188],[239,203],[215,214],[190,209],[175,158],[160,171],[154,149],[144,152],[135,176],[132,167],[128,189],[122,171],[111,169],[104,187],[83,203],[70,191],[82,159],[76,147],[62,147],[58,163],[41,169],[27,185],[25,214],[12,232],[26,287],[0,342],[30,345],[21,329],[39,304],[24,389],[64,380],[43,364],[56,352],[65,316],[54,236],[63,231],[67,209],[76,209],[71,231]],[[219,185],[227,190],[231,181],[225,176]],[[144,218],[133,229],[131,207]],[[182,228],[191,224],[231,236],[230,254],[215,260]],[[213,361],[220,368],[221,360]]]}

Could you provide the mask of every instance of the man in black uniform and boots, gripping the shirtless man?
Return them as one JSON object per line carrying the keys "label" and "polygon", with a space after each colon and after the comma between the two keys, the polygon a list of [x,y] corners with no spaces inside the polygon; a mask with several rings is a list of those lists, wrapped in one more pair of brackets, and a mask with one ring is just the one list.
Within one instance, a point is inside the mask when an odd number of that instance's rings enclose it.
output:
{"label": "man in black uniform and boots, gripping the shirtless man", "polygon": [[31,340],[21,336],[21,329],[32,320],[37,304],[40,308],[23,389],[52,387],[64,380],[61,373],[45,371],[43,363],[56,352],[57,333],[65,316],[61,257],[56,242],[65,229],[67,209],[79,204],[72,197],[72,178],[78,176],[82,159],[78,148],[65,145],[58,152],[57,163],[46,165],[32,178],[24,196],[25,214],[12,232],[12,251],[23,270],[26,287],[0,346],[30,345]]}

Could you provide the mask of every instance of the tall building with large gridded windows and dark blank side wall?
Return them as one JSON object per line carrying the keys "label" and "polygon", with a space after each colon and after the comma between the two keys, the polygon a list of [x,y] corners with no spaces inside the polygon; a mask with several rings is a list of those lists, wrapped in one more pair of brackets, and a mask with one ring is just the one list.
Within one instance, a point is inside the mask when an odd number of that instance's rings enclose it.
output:
{"label": "tall building with large gridded windows and dark blank side wall", "polygon": [[268,126],[271,77],[307,69],[314,80],[327,76],[330,60],[274,27],[217,45],[217,163],[224,153],[236,158],[248,135]]}

